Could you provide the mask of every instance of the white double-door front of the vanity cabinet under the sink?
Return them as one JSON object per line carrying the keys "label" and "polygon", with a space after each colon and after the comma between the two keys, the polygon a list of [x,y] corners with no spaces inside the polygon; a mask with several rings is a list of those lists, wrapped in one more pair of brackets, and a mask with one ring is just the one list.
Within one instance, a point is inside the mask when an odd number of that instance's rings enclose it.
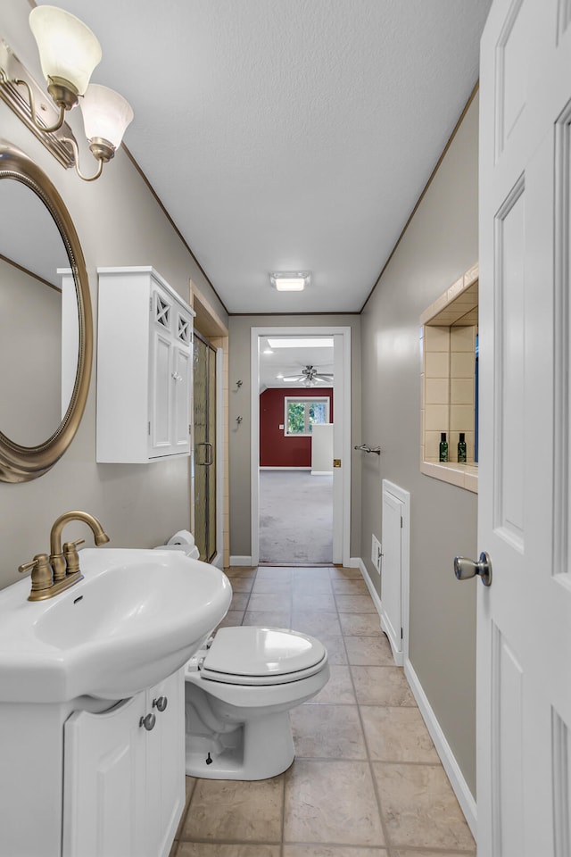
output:
{"label": "white double-door front of the vanity cabinet under the sink", "polygon": [[183,672],[66,721],[62,857],[168,857],[185,806]]}

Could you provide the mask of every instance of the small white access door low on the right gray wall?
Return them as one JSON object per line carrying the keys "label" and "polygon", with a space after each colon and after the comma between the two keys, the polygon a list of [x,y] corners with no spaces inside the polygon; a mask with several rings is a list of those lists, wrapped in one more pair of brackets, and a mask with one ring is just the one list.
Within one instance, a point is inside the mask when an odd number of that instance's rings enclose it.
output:
{"label": "small white access door low on the right gray wall", "polygon": [[383,490],[381,620],[397,662],[402,651],[402,507],[401,500]]}

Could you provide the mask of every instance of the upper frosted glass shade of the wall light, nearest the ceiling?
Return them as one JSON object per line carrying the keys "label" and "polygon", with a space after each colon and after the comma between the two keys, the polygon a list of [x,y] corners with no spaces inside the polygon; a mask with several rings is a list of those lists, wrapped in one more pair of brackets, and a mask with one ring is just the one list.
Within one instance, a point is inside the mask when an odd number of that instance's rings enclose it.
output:
{"label": "upper frosted glass shade of the wall light, nearest the ceiling", "polygon": [[91,30],[75,15],[57,6],[32,9],[29,26],[46,80],[69,80],[82,96],[102,55],[101,45]]}

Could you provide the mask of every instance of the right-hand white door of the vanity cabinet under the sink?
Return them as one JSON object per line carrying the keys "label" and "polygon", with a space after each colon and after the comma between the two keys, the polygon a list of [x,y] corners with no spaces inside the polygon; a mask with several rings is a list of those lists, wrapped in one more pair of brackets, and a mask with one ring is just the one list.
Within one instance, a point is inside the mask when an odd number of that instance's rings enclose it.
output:
{"label": "right-hand white door of the vanity cabinet under the sink", "polygon": [[168,857],[185,808],[184,682],[184,670],[178,670],[147,695],[147,710],[156,716],[146,742],[147,842],[153,857]]}

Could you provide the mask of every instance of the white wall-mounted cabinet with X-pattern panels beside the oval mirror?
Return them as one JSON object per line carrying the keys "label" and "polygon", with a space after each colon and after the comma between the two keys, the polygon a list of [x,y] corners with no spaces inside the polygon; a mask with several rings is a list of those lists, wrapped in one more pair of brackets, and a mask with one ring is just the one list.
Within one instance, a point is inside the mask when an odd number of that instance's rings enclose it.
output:
{"label": "white wall-mounted cabinet with X-pattern panels beside the oval mirror", "polygon": [[189,455],[194,311],[151,267],[97,273],[97,462]]}

